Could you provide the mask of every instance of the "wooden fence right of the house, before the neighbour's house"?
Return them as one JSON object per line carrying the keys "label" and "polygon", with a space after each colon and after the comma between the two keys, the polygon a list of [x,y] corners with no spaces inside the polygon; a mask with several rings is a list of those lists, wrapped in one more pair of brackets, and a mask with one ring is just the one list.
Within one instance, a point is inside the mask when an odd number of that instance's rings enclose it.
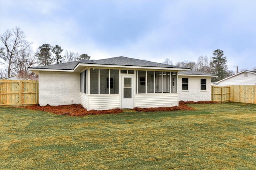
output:
{"label": "wooden fence right of the house, before the neighbour's house", "polygon": [[212,86],[212,101],[256,104],[256,86]]}

